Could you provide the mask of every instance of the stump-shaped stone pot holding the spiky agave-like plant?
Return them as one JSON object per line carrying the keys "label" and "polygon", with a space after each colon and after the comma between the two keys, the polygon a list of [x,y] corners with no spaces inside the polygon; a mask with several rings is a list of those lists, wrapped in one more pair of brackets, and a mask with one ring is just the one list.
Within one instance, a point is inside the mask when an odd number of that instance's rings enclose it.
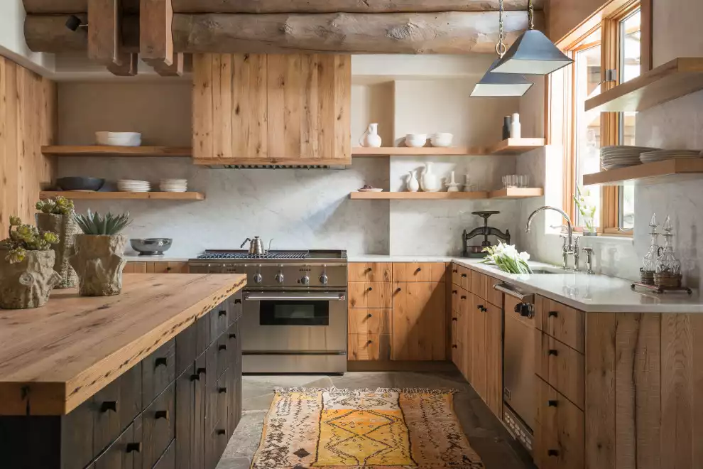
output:
{"label": "stump-shaped stone pot holding the spiky agave-like plant", "polygon": [[76,234],[71,265],[78,274],[82,296],[112,296],[122,291],[124,234]]}

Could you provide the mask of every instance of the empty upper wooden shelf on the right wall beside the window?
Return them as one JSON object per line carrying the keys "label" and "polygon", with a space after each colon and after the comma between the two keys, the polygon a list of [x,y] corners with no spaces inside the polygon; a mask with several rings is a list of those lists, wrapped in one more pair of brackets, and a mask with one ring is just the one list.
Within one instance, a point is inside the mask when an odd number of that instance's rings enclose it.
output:
{"label": "empty upper wooden shelf on the right wall beside the window", "polygon": [[643,111],[703,90],[703,58],[677,58],[586,101],[586,110]]}

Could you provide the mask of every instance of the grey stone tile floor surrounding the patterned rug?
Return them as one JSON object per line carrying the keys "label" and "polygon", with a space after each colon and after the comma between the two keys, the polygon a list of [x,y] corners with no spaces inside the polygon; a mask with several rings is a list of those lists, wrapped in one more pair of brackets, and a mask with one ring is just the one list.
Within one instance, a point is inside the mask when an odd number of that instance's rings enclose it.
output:
{"label": "grey stone tile floor surrounding the patterned rug", "polygon": [[[245,375],[243,412],[217,469],[249,469],[274,387],[426,387],[457,389],[454,411],[486,469],[532,469],[529,455],[508,434],[459,372],[348,372],[344,375]],[[273,468],[272,468],[273,469]],[[278,469],[278,468],[276,468]]]}

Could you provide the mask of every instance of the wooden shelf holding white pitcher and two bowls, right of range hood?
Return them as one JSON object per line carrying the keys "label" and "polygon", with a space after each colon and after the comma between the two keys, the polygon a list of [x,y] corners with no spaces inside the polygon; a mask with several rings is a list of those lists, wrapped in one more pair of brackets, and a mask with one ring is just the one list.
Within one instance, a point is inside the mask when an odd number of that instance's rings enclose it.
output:
{"label": "wooden shelf holding white pitcher and two bowls, right of range hood", "polygon": [[383,146],[381,148],[366,148],[356,146],[351,149],[351,156],[356,158],[388,156],[486,156],[486,155],[518,155],[526,151],[545,146],[545,139],[506,139],[490,148],[482,146],[423,146],[410,148],[409,146]]}

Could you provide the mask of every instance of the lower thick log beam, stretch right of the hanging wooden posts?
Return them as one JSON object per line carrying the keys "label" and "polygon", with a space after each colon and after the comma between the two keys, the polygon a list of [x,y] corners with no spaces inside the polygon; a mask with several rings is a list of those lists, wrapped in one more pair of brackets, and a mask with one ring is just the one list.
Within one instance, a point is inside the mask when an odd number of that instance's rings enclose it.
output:
{"label": "lower thick log beam, stretch right of the hanging wooden posts", "polygon": [[[504,19],[512,43],[528,16]],[[535,23],[544,23],[541,12]],[[173,45],[184,53],[491,53],[497,41],[497,12],[173,16]]]}

